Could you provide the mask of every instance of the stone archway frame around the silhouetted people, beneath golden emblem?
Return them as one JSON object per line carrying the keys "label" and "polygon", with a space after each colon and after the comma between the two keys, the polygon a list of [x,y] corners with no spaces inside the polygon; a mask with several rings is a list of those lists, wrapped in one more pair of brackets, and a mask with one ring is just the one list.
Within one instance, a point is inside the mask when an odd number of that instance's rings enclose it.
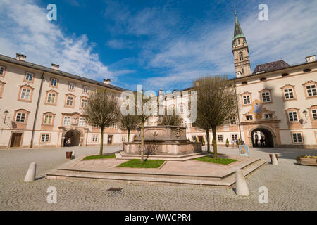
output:
{"label": "stone archway frame around the silhouetted people, beneath golden emblem", "polygon": [[[278,141],[276,139],[275,131],[271,127],[267,127],[264,125],[257,125],[251,127],[249,129],[248,139],[249,139],[249,147],[255,147],[254,133],[260,132],[265,138],[265,147],[273,148],[274,146],[278,146]],[[261,147],[260,143],[261,137],[259,137],[259,147]]]}

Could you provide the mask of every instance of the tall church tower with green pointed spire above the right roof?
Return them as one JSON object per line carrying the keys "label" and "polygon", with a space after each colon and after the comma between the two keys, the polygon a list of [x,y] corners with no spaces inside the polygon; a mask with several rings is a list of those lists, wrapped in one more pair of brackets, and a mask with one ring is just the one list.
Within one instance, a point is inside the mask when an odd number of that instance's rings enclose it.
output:
{"label": "tall church tower with green pointed spire above the right roof", "polygon": [[232,40],[232,53],[236,77],[251,75],[249,47],[247,40],[242,33],[239,21],[237,20],[237,11],[235,11],[235,34],[233,35]]}

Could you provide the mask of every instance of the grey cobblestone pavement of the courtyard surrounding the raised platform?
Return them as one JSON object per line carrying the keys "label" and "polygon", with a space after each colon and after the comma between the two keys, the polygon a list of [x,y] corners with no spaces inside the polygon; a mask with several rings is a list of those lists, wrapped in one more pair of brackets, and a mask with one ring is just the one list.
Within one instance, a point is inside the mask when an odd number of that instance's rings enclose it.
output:
{"label": "grey cobblestone pavement of the courtyard surrounding the raised platform", "polygon": [[[121,150],[106,146],[104,152]],[[97,154],[98,147],[71,147],[76,156]],[[251,157],[269,160],[278,153],[280,165],[266,165],[247,179],[249,197],[229,188],[168,184],[128,184],[120,181],[61,181],[45,173],[66,162],[66,148],[0,150],[0,210],[317,210],[317,167],[297,165],[297,155],[317,150],[252,149]],[[220,148],[237,154],[237,149]],[[37,162],[37,181],[23,181],[30,162]],[[57,203],[46,202],[49,186]],[[268,204],[258,201],[259,187],[268,188]],[[107,191],[108,188],[123,188]]]}

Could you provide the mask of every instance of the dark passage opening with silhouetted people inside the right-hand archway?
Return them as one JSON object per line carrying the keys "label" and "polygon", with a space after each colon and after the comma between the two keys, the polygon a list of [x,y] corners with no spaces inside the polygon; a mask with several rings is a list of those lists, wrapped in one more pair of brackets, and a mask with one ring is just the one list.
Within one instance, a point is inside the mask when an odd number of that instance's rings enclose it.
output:
{"label": "dark passage opening with silhouetted people inside the right-hand archway", "polygon": [[273,134],[265,128],[254,129],[251,133],[253,147],[273,148]]}

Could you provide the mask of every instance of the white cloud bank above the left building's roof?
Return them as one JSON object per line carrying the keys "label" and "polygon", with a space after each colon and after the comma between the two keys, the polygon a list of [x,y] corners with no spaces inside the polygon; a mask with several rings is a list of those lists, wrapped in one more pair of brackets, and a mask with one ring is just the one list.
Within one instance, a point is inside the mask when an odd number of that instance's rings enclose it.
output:
{"label": "white cloud bank above the left building's roof", "polygon": [[[24,53],[27,60],[39,65],[60,65],[61,70],[92,79],[115,79],[101,63],[94,44],[82,35],[71,37],[63,33],[56,22],[46,19],[46,8],[40,8],[35,1],[0,1],[0,53],[15,56]],[[119,71],[119,74],[125,71]]]}

